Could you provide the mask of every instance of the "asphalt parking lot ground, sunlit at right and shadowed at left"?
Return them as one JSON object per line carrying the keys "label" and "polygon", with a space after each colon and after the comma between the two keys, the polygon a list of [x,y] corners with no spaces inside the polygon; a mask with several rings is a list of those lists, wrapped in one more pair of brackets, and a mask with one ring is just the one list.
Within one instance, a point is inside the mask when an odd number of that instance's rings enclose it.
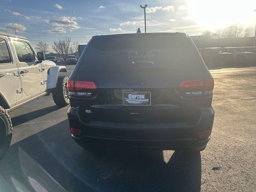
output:
{"label": "asphalt parking lot ground, sunlit at right and shadowed at left", "polygon": [[203,152],[87,151],[70,136],[68,107],[44,96],[10,112],[0,191],[256,191],[256,67],[211,73],[216,114]]}

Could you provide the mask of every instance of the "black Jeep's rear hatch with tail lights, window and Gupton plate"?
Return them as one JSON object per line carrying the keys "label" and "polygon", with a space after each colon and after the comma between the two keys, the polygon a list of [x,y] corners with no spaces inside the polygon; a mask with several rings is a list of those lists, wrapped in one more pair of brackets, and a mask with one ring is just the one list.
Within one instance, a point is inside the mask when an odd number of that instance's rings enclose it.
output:
{"label": "black Jeep's rear hatch with tail lights, window and Gupton plate", "polygon": [[184,126],[211,107],[213,79],[184,33],[95,36],[87,46],[68,81],[84,124]]}

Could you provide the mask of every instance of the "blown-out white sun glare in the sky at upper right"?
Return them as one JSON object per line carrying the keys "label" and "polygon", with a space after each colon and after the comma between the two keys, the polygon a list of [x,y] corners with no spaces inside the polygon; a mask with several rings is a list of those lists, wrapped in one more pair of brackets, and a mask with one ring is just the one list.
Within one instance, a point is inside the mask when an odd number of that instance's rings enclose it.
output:
{"label": "blown-out white sun glare in the sky at upper right", "polygon": [[189,19],[205,29],[218,29],[239,23],[254,26],[256,0],[188,0]]}

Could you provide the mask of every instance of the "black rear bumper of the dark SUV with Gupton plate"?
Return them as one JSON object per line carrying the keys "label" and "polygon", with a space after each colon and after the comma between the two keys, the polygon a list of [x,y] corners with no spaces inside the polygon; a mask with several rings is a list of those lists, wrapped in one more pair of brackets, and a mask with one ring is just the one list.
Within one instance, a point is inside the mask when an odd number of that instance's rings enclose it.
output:
{"label": "black rear bumper of the dark SUV with Gupton plate", "polygon": [[117,124],[91,122],[84,124],[78,115],[79,108],[68,109],[71,128],[82,130],[72,133],[74,140],[85,144],[115,147],[161,148],[200,150],[210,140],[210,134],[199,137],[198,132],[212,131],[214,111],[201,108],[201,117],[194,125],[185,123],[170,124]]}

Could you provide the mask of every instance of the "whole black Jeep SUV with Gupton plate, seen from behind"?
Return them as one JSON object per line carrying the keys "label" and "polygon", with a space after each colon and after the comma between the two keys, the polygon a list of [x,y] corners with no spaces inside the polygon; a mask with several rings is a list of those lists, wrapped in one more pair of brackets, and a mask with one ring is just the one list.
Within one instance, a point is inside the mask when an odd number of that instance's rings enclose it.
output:
{"label": "whole black Jeep SUV with Gupton plate, seen from behind", "polygon": [[93,36],[68,80],[71,135],[82,147],[204,150],[213,86],[185,33]]}

